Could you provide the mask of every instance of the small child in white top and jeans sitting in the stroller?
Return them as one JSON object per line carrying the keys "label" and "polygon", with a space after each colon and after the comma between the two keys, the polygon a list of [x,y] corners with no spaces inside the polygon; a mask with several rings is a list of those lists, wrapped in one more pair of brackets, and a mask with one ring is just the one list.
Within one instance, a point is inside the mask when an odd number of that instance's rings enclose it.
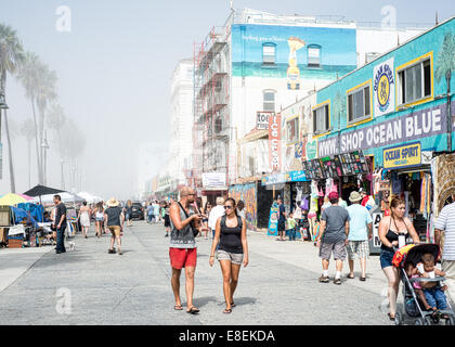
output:
{"label": "small child in white top and jeans sitting in the stroller", "polygon": [[431,318],[435,320],[438,317],[448,319],[447,313],[441,313],[440,310],[447,308],[447,300],[444,295],[444,291],[447,286],[441,286],[438,282],[425,281],[419,282],[414,279],[434,279],[434,277],[445,277],[445,273],[435,268],[435,259],[431,253],[426,253],[421,256],[421,262],[418,262],[416,267],[408,264],[406,270],[407,274],[411,274],[411,282],[413,282],[414,290],[417,294],[418,299],[421,301],[426,311],[433,311]]}

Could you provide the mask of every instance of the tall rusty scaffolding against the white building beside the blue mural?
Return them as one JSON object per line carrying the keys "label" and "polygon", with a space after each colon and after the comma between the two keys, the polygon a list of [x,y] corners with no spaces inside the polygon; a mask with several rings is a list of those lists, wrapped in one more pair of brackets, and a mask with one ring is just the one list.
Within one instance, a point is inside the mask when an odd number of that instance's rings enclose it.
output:
{"label": "tall rusty scaffolding against the white building beside the blue mural", "polygon": [[202,174],[226,174],[230,131],[230,26],[213,27],[202,43],[194,43],[194,124],[191,181],[202,187]]}

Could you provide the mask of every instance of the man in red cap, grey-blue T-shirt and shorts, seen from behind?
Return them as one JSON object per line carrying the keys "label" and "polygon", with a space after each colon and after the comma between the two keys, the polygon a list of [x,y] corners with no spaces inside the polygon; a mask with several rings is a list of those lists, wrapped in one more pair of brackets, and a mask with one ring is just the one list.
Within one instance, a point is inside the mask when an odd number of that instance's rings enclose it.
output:
{"label": "man in red cap, grey-blue T-shirt and shorts, seen from behind", "polygon": [[341,284],[342,262],[346,259],[346,244],[349,235],[349,214],[346,208],[338,206],[338,193],[328,194],[328,200],[332,205],[325,208],[321,216],[321,237],[316,243],[323,266],[320,282],[329,282],[328,265],[334,253],[337,268],[334,283]]}

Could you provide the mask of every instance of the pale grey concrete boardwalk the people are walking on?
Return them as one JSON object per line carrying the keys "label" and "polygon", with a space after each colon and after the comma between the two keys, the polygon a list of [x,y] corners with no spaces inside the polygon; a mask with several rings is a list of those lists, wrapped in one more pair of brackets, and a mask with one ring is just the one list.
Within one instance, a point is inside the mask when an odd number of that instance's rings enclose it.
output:
{"label": "pale grey concrete boardwalk the people are walking on", "polygon": [[[1,324],[391,324],[379,258],[368,260],[367,281],[318,283],[321,261],[310,243],[248,234],[250,265],[242,268],[232,314],[223,314],[219,265],[208,265],[211,240],[198,237],[194,305],[197,316],[173,310],[169,239],[162,224],[126,228],[123,255],[107,254],[109,236],[76,236],[76,249],[0,250]],[[359,265],[356,264],[356,267]],[[330,264],[330,278],[335,264]],[[6,277],[5,277],[6,279]],[[181,279],[183,305],[184,277]]]}

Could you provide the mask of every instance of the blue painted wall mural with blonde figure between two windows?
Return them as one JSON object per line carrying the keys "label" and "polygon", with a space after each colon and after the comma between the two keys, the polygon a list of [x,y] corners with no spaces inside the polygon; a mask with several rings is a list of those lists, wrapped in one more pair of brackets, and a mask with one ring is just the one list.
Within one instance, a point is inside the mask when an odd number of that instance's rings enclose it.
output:
{"label": "blue painted wall mural with blonde figure between two windows", "polygon": [[233,77],[285,78],[297,90],[302,79],[335,79],[356,63],[353,28],[232,26]]}

